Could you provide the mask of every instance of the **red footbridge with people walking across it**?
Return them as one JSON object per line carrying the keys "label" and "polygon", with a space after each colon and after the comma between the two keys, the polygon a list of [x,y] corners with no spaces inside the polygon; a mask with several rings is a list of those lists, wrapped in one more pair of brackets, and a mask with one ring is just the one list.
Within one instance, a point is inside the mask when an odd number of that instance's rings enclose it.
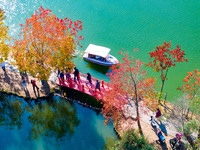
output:
{"label": "red footbridge with people walking across it", "polygon": [[[71,88],[74,90],[78,90],[80,92],[91,95],[97,99],[103,100],[104,92],[108,88],[107,83],[105,83],[103,80],[99,80],[99,79],[92,77],[91,78],[92,85],[90,85],[90,83],[88,83],[86,85],[87,75],[85,75],[83,73],[79,73],[79,75],[80,75],[79,81],[74,81],[74,75],[73,74],[70,74],[70,75],[71,75],[71,77],[69,79],[66,79],[66,76],[64,76],[64,79],[59,78],[59,85],[68,87],[68,88]],[[95,89],[96,80],[98,80],[100,82],[101,91],[99,91],[98,89]]]}

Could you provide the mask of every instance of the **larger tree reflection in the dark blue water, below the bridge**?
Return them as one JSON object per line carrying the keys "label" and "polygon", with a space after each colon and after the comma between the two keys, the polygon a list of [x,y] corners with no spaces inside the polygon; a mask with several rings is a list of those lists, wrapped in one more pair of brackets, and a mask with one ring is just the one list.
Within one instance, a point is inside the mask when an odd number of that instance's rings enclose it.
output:
{"label": "larger tree reflection in the dark blue water, below the bridge", "polygon": [[64,99],[56,97],[47,101],[27,109],[30,112],[28,119],[32,124],[31,137],[34,139],[42,136],[70,137],[80,122],[76,108]]}

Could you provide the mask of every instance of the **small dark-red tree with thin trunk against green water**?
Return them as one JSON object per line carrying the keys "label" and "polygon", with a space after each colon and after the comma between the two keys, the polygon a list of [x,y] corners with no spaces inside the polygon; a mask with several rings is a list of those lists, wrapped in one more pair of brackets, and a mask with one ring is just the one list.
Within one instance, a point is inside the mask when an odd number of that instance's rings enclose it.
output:
{"label": "small dark-red tree with thin trunk against green water", "polygon": [[[154,71],[161,72],[160,78],[162,81],[160,98],[163,92],[164,83],[167,80],[167,73],[170,67],[175,66],[178,62],[188,61],[184,58],[185,52],[181,49],[179,45],[175,49],[172,48],[171,42],[156,46],[152,52],[149,52],[150,58],[149,63],[146,66],[149,66],[154,69]],[[151,59],[153,59],[151,61]]]}

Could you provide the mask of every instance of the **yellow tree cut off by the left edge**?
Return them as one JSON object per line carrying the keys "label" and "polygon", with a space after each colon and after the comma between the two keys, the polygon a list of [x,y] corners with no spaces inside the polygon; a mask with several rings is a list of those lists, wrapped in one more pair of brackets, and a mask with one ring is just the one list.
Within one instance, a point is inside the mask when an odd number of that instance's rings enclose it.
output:
{"label": "yellow tree cut off by the left edge", "polygon": [[6,19],[4,11],[0,9],[0,62],[7,60],[9,54],[9,47],[6,42],[9,41],[8,27],[5,25]]}

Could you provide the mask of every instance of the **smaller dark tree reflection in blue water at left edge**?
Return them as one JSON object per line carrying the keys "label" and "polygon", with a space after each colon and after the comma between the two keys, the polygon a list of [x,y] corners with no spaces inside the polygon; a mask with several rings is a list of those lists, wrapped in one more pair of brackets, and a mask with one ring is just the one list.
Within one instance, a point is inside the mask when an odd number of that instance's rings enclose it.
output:
{"label": "smaller dark tree reflection in blue water at left edge", "polygon": [[24,108],[22,102],[12,96],[0,93],[0,126],[21,129]]}

